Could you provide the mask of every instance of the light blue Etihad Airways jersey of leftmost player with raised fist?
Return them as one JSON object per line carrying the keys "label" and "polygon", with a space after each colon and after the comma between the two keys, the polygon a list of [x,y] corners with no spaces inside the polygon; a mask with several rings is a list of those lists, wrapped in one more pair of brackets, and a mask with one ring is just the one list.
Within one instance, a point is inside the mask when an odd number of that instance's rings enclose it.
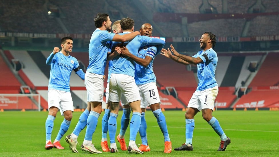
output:
{"label": "light blue Etihad Airways jersey of leftmost player with raised fist", "polygon": [[75,57],[71,55],[65,56],[61,51],[57,52],[50,64],[48,89],[70,92],[71,72],[77,67],[79,67],[79,63]]}

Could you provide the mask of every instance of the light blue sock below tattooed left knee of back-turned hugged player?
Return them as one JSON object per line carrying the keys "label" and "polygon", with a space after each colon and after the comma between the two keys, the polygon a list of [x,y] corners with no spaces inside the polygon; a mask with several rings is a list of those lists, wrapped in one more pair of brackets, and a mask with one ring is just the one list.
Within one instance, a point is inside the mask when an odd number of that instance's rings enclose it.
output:
{"label": "light blue sock below tattooed left knee of back-turned hugged player", "polygon": [[117,118],[118,114],[110,113],[108,120],[109,140],[110,143],[115,143],[115,134],[117,129]]}

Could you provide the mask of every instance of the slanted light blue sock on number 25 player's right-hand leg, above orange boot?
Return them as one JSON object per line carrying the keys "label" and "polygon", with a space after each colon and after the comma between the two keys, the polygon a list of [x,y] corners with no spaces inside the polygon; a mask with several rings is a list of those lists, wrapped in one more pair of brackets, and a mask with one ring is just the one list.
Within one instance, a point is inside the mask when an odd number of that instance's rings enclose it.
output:
{"label": "slanted light blue sock on number 25 player's right-hand leg, above orange boot", "polygon": [[166,141],[170,142],[170,136],[169,136],[169,132],[168,132],[168,128],[167,128],[166,117],[162,113],[162,110],[159,108],[159,109],[153,111],[153,114],[156,117],[157,123],[164,135],[165,142]]}

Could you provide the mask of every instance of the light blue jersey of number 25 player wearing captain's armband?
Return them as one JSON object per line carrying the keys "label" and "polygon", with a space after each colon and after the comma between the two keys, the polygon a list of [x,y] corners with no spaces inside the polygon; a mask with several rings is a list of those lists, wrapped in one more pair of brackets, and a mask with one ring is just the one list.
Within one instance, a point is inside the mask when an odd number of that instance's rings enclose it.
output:
{"label": "light blue jersey of number 25 player wearing captain's armband", "polygon": [[152,61],[147,67],[139,65],[138,63],[135,64],[135,83],[137,85],[156,82],[156,76],[153,72],[153,61],[158,54],[156,46],[148,45],[139,49],[137,57],[144,59],[146,56],[149,56],[152,58]]}

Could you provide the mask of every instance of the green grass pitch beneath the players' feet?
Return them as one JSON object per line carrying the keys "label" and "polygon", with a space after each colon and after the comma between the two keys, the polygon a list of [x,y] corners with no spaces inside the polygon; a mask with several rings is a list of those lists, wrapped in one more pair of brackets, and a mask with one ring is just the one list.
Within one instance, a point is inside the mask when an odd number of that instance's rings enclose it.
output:
{"label": "green grass pitch beneath the players' feet", "polygon": [[[54,121],[52,141],[55,139],[63,116],[58,112]],[[185,118],[184,111],[165,111],[168,131],[172,141],[172,153],[164,153],[164,138],[158,127],[156,118],[150,110],[146,112],[148,125],[147,135],[151,152],[144,154],[128,154],[120,149],[119,142],[116,141],[119,152],[102,154],[89,154],[81,151],[72,153],[68,144],[64,141],[65,136],[70,134],[79,119],[81,112],[74,112],[71,126],[61,139],[64,150],[53,148],[45,150],[45,120],[48,112],[35,111],[4,111],[0,112],[0,156],[279,156],[279,112],[278,111],[232,111],[218,110],[213,112],[213,116],[218,119],[221,127],[231,144],[224,152],[217,152],[220,138],[211,126],[202,119],[201,113],[195,117],[195,129],[193,136],[194,151],[174,151],[185,142]],[[99,117],[98,125],[93,134],[93,143],[98,150],[101,150],[101,119],[104,112]],[[117,134],[120,130],[120,119],[122,111],[119,111],[117,118]],[[79,145],[82,144],[85,136],[83,130],[78,138]],[[109,139],[108,139],[109,140]],[[129,143],[129,128],[125,135],[125,141]],[[108,141],[109,142],[109,141]],[[137,144],[141,144],[139,134],[137,134]]]}

